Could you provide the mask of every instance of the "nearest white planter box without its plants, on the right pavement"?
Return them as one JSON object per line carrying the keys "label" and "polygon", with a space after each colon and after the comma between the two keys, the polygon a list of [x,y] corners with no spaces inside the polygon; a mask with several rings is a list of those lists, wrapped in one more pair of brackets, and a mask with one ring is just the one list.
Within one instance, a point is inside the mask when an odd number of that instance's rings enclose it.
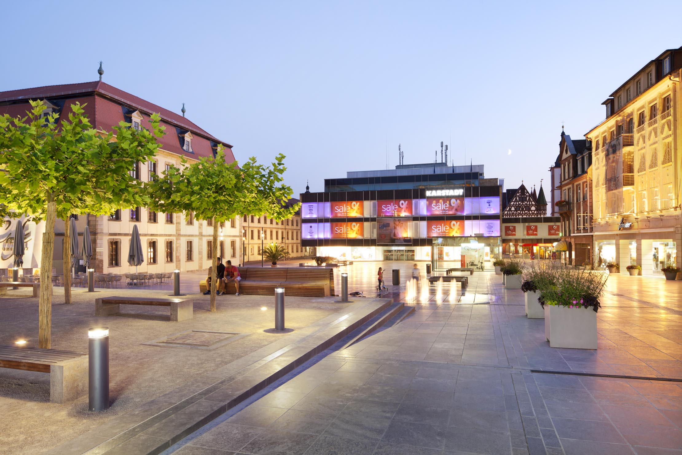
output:
{"label": "nearest white planter box without its plants, on the right pavement", "polygon": [[553,348],[597,349],[597,313],[545,305],[545,338]]}

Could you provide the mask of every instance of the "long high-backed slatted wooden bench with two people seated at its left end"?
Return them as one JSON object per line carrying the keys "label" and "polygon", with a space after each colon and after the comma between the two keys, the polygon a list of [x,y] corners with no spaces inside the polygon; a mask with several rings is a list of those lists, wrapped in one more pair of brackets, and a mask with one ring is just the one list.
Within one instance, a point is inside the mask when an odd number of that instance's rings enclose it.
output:
{"label": "long high-backed slatted wooden bench with two people seated at its left end", "polygon": [[[241,267],[240,294],[274,295],[276,287],[286,289],[286,295],[325,297],[334,294],[334,271],[331,267]],[[206,280],[199,282],[199,290],[206,291]],[[233,281],[227,292],[235,293]]]}

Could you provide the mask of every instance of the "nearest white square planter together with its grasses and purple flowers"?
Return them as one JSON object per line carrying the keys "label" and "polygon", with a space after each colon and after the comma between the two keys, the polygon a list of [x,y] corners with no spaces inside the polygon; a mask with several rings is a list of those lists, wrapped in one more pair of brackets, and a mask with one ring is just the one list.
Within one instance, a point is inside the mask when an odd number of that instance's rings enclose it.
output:
{"label": "nearest white square planter together with its grasses and purple flowers", "polygon": [[550,347],[597,349],[597,310],[608,274],[563,267],[554,283],[539,283]]}

